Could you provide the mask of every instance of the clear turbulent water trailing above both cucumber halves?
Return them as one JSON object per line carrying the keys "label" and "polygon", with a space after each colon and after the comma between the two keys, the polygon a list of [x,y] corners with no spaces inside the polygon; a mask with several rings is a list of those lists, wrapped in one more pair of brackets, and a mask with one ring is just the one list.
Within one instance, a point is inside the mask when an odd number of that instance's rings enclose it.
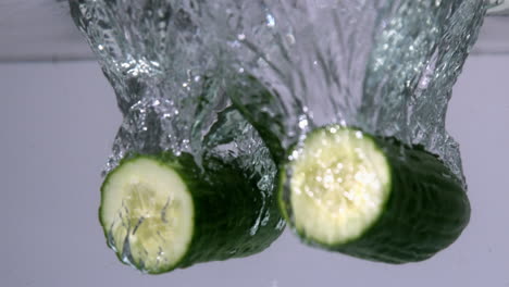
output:
{"label": "clear turbulent water trailing above both cucumber halves", "polygon": [[234,162],[262,191],[251,236],[274,220],[272,159],[323,125],[422,145],[464,183],[445,118],[482,0],[70,3],[124,116],[103,175],[137,153]]}

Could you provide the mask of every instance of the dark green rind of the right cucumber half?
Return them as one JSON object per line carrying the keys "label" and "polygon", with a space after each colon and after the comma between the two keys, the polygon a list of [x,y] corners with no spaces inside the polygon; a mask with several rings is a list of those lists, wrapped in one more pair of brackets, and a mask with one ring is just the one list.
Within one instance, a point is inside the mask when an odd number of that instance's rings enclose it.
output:
{"label": "dark green rind of the right cucumber half", "polygon": [[[364,136],[369,136],[364,134]],[[283,215],[308,245],[393,264],[426,260],[461,235],[470,220],[470,203],[457,177],[422,147],[371,137],[390,166],[390,194],[384,212],[357,239],[327,245],[296,229],[289,207],[286,169],[280,170],[278,203]]]}

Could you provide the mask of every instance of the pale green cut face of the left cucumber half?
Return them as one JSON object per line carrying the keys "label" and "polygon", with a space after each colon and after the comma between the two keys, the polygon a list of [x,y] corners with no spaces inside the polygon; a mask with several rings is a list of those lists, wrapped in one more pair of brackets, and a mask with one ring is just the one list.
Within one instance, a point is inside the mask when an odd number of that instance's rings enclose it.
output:
{"label": "pale green cut face of the left cucumber half", "polygon": [[186,254],[194,205],[171,166],[138,157],[105,178],[100,220],[110,247],[123,262],[157,274],[174,269]]}

